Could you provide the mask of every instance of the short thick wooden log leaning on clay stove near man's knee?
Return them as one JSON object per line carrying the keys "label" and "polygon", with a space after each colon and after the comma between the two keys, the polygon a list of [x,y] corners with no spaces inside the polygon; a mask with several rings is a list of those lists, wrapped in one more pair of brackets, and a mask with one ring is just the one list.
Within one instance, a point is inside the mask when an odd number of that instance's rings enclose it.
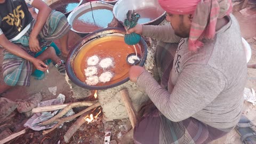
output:
{"label": "short thick wooden log leaning on clay stove near man's knee", "polygon": [[120,93],[121,93],[121,98],[124,102],[124,106],[126,108],[126,111],[128,113],[130,122],[132,124],[132,128],[134,129],[135,125],[138,122],[137,111],[134,109],[134,107],[132,105],[132,102],[131,102],[131,99],[129,97],[129,94],[128,94],[127,90],[123,89],[123,90],[120,91]]}

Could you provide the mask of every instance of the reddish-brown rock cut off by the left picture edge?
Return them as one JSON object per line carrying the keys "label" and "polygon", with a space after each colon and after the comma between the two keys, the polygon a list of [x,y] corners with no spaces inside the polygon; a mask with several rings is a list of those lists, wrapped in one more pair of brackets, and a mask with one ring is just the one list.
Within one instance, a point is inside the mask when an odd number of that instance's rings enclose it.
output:
{"label": "reddish-brown rock cut off by the left picture edge", "polygon": [[6,98],[0,98],[0,123],[4,122],[5,118],[8,117],[17,107],[18,103]]}

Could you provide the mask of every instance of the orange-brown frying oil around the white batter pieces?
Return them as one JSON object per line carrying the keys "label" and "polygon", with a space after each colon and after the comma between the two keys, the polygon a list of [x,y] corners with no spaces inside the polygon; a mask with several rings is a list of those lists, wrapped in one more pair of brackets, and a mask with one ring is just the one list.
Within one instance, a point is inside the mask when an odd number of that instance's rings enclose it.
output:
{"label": "orange-brown frying oil around the white batter pieces", "polygon": [[[135,47],[137,53],[141,55],[141,46],[137,44]],[[87,59],[93,55],[97,55],[100,60],[112,58],[114,67],[103,70],[99,65],[97,65],[97,76],[99,77],[104,71],[110,71],[114,74],[114,77],[111,78],[110,82],[99,82],[97,86],[115,84],[129,76],[128,73],[131,65],[127,64],[126,57],[130,53],[135,53],[134,46],[125,44],[124,36],[115,35],[98,38],[82,47],[76,55],[73,68],[77,78],[85,83],[86,77],[84,69],[88,67]]]}

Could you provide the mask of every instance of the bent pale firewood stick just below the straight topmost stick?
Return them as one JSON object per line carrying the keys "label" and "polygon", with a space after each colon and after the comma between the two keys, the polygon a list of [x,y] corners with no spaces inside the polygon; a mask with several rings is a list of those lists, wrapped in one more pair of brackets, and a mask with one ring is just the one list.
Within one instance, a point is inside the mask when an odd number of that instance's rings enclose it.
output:
{"label": "bent pale firewood stick just below the straight topmost stick", "polygon": [[59,114],[55,115],[54,117],[52,117],[51,119],[42,122],[41,125],[49,125],[53,122],[56,122],[56,119],[61,118],[63,115],[65,115],[71,108],[75,108],[75,107],[84,107],[84,106],[92,106],[95,102],[86,102],[86,101],[82,101],[82,102],[75,102],[75,103],[71,103],[70,105],[68,105],[67,107],[65,107],[62,111],[60,111]]}

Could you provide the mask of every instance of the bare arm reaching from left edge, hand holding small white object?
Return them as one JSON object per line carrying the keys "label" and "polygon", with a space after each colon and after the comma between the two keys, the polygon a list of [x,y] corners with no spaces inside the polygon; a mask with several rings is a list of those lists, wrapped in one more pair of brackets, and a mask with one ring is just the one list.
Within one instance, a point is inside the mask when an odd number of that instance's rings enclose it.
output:
{"label": "bare arm reaching from left edge, hand holding small white object", "polygon": [[[15,45],[13,43],[11,43],[3,33],[1,33],[1,29],[0,29],[0,45],[6,49],[7,51],[9,51],[10,53],[17,55],[18,57],[21,57],[23,59],[26,59],[30,62],[32,62],[34,64],[34,66],[36,67],[36,69],[38,70],[42,70],[45,71],[48,66],[45,65],[45,63],[41,60],[38,60],[34,57],[32,57],[31,55],[29,55],[26,51],[24,51],[23,49],[21,49],[21,47],[19,47],[18,45]],[[44,66],[44,67],[42,67]]]}

